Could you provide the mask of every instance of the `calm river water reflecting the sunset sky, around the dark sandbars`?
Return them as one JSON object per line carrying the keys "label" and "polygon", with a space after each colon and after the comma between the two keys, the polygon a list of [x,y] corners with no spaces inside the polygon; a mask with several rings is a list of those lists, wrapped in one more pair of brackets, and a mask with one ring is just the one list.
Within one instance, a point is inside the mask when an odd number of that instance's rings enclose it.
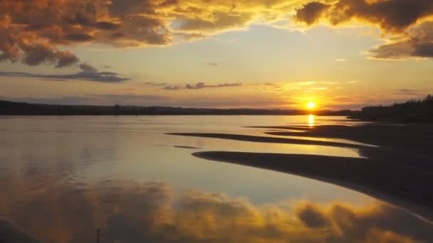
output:
{"label": "calm river water reflecting the sunset sky, around the dark sandbars", "polygon": [[95,242],[96,229],[101,242],[433,239],[429,223],[353,190],[191,155],[358,157],[354,149],[165,134],[265,136],[244,126],[289,124],[351,123],[303,116],[0,117],[0,217],[44,242]]}

